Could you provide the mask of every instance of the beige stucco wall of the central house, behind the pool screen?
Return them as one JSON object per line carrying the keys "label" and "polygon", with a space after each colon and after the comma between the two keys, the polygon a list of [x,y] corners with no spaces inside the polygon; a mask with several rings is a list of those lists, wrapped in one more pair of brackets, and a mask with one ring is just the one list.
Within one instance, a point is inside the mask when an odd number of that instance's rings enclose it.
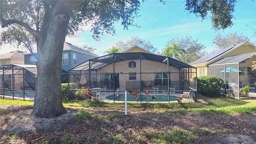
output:
{"label": "beige stucco wall of the central house, behind the pool screen", "polygon": [[[134,61],[136,62],[136,68],[128,68],[128,62]],[[141,80],[143,81],[154,81],[154,73],[152,72],[168,72],[167,65],[160,62],[154,62],[150,60],[142,60],[142,73],[147,73],[147,74],[142,74],[141,75]],[[173,72],[170,75],[171,81],[179,81],[179,69],[174,68],[172,66],[169,66],[170,72]],[[125,90],[126,89],[126,81],[134,81],[134,80],[129,80],[129,72],[132,73],[140,73],[140,60],[125,60],[122,62],[117,62],[115,63],[115,73],[119,73],[119,84],[120,84],[120,90]],[[174,73],[176,72],[176,73]],[[97,81],[100,81],[100,73],[113,73],[113,64],[109,64],[100,70],[97,71]],[[126,73],[126,74],[125,74]],[[122,76],[123,79],[121,78]],[[140,81],[140,75],[136,74],[136,81]]]}

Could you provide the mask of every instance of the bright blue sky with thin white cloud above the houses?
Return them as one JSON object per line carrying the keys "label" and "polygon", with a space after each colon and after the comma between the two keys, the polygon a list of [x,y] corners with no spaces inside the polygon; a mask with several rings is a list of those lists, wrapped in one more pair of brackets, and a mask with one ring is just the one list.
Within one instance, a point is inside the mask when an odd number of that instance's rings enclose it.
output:
{"label": "bright blue sky with thin white cloud above the houses", "polygon": [[[138,36],[150,41],[159,51],[171,38],[192,36],[192,38],[198,38],[198,42],[206,46],[207,52],[212,52],[215,47],[212,40],[218,32],[212,29],[210,15],[201,21],[200,17],[196,18],[194,14],[189,14],[185,10],[184,0],[166,0],[165,3],[164,5],[159,0],[148,0],[141,3],[141,16],[134,19],[134,22],[141,26],[140,28],[129,27],[128,30],[123,30],[120,22],[117,22],[114,36],[104,34],[100,41],[95,41],[92,38],[90,26],[86,26],[84,28],[86,31],[80,33],[78,38],[66,37],[66,42],[78,46],[88,44],[97,49],[95,54],[102,56],[103,52],[114,46],[115,42],[126,41],[131,36]],[[255,38],[251,37],[252,30],[246,25],[256,28],[256,1],[238,0],[233,14],[234,25],[231,28],[220,30],[219,33],[226,35],[237,32],[238,35],[243,34],[254,41]],[[1,53],[7,51],[4,48]]]}

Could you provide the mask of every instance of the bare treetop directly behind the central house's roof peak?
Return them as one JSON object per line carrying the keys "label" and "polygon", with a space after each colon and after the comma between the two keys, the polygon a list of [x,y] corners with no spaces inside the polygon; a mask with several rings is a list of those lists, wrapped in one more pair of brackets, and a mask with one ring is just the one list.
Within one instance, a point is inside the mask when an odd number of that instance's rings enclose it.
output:
{"label": "bare treetop directly behind the central house's roof peak", "polygon": [[132,36],[129,40],[127,41],[122,41],[122,40],[119,40],[118,42],[116,42],[115,46],[118,47],[118,48],[121,48],[122,51],[125,51],[129,48],[131,48],[132,46],[140,46],[152,53],[155,53],[156,52],[156,48],[151,44],[150,41],[146,41],[146,40],[143,40],[141,38],[138,38],[138,36],[134,37]]}

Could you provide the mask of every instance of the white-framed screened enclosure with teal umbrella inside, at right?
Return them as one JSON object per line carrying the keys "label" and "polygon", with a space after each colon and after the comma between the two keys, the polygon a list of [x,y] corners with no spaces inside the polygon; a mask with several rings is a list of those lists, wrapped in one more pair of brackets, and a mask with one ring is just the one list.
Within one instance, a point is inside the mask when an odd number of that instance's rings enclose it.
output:
{"label": "white-framed screened enclosure with teal umbrella inside, at right", "polygon": [[223,58],[209,65],[209,75],[220,76],[228,84],[227,94],[232,94],[240,99],[243,96],[240,89],[244,86],[250,87],[249,97],[256,96],[256,70],[250,67],[252,61],[256,60],[255,52],[239,54]]}

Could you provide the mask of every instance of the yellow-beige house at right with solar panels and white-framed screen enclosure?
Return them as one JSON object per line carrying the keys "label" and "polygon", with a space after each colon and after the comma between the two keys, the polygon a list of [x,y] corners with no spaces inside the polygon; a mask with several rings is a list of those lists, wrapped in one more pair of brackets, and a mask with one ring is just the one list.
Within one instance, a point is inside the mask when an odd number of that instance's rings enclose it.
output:
{"label": "yellow-beige house at right with solar panels and white-framed screen enclosure", "polygon": [[[190,63],[197,68],[198,76],[219,76],[229,84],[228,92],[235,98],[240,98],[240,88],[250,86],[250,92],[255,92],[256,70],[251,65],[256,61],[256,46],[250,42],[242,42],[202,56]],[[256,96],[256,94],[250,94]]]}

